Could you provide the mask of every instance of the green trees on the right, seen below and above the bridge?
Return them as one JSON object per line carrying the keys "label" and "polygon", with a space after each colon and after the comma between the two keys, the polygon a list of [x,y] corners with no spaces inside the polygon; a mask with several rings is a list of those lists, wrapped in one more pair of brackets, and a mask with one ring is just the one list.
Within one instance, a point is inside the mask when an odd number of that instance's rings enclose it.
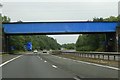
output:
{"label": "green trees on the right, seen below and above the bridge", "polygon": [[[97,22],[112,22],[120,21],[120,16],[110,16],[109,18],[93,18],[93,21]],[[76,42],[77,51],[106,51],[106,34],[82,34],[79,35]],[[114,41],[109,41],[110,46],[115,46]],[[112,50],[112,49],[109,49]],[[114,51],[114,50],[113,50]]]}

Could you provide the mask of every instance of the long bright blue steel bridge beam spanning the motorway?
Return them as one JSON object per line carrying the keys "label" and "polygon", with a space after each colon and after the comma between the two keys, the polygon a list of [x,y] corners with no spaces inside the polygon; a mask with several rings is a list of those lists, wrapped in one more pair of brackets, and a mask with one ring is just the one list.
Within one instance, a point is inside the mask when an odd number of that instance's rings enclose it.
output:
{"label": "long bright blue steel bridge beam spanning the motorway", "polygon": [[5,34],[116,32],[117,22],[22,22],[4,23]]}

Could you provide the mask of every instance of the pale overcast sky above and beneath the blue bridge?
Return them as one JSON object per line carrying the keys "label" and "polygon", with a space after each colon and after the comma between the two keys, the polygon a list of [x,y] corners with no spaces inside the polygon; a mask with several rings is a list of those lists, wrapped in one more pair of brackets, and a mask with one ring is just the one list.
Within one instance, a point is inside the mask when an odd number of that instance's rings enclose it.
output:
{"label": "pale overcast sky above and beneath the blue bridge", "polygon": [[[87,21],[118,15],[120,0],[2,0],[2,15],[13,22]],[[78,35],[48,35],[60,44],[75,43]]]}

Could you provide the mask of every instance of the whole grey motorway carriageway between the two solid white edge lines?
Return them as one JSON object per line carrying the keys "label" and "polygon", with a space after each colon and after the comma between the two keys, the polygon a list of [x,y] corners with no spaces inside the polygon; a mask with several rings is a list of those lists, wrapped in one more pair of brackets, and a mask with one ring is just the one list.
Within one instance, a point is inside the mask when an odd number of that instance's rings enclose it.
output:
{"label": "whole grey motorway carriageway between the two solid white edge lines", "polygon": [[61,58],[26,54],[2,66],[3,78],[118,78],[114,67]]}

